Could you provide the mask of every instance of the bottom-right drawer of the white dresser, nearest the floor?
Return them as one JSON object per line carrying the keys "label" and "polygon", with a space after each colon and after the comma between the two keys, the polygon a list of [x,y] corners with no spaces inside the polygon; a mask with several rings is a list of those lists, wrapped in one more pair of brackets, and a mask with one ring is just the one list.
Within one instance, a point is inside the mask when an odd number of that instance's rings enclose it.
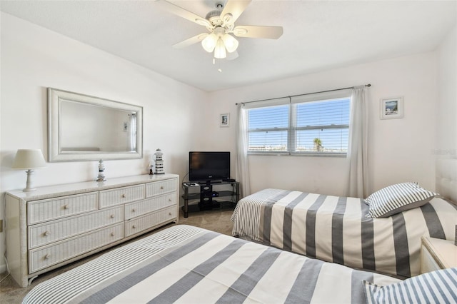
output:
{"label": "bottom-right drawer of the white dresser, nearest the floor", "polygon": [[154,213],[150,213],[140,218],[126,221],[126,237],[140,233],[143,230],[154,228],[161,223],[173,221],[176,219],[177,208],[176,206],[165,208]]}

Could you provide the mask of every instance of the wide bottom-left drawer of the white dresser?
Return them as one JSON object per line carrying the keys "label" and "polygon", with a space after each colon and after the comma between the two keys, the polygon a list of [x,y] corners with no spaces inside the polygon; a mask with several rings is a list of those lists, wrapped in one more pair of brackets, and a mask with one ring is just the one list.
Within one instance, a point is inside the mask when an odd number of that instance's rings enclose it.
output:
{"label": "wide bottom-left drawer of the white dresser", "polygon": [[29,250],[29,273],[61,263],[122,238],[124,238],[124,223],[119,223],[54,245]]}

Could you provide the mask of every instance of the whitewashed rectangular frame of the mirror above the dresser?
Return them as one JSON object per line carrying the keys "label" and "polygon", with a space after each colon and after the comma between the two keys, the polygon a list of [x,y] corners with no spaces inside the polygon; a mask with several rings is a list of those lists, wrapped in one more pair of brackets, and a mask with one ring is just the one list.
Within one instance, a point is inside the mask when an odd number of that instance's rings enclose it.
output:
{"label": "whitewashed rectangular frame of the mirror above the dresser", "polygon": [[[61,152],[59,120],[61,119],[61,101],[76,101],[95,106],[115,108],[124,111],[136,112],[136,151],[110,152],[110,151],[72,151]],[[135,159],[143,157],[143,107],[129,103],[111,101],[94,96],[61,91],[48,88],[48,161],[99,161],[114,159]]]}

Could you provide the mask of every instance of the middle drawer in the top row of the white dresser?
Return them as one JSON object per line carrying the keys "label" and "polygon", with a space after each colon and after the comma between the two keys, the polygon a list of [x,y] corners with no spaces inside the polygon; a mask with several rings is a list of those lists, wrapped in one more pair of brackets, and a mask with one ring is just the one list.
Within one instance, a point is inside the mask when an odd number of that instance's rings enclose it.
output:
{"label": "middle drawer in the top row of the white dresser", "polygon": [[100,191],[100,208],[130,203],[144,198],[144,185]]}

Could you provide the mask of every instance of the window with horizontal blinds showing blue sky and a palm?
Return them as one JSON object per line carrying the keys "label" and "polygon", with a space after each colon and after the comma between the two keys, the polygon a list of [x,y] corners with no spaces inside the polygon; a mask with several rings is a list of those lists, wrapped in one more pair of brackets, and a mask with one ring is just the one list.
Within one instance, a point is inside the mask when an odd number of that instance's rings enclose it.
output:
{"label": "window with horizontal blinds showing blue sky and a palm", "polygon": [[248,153],[346,155],[351,91],[246,103]]}

